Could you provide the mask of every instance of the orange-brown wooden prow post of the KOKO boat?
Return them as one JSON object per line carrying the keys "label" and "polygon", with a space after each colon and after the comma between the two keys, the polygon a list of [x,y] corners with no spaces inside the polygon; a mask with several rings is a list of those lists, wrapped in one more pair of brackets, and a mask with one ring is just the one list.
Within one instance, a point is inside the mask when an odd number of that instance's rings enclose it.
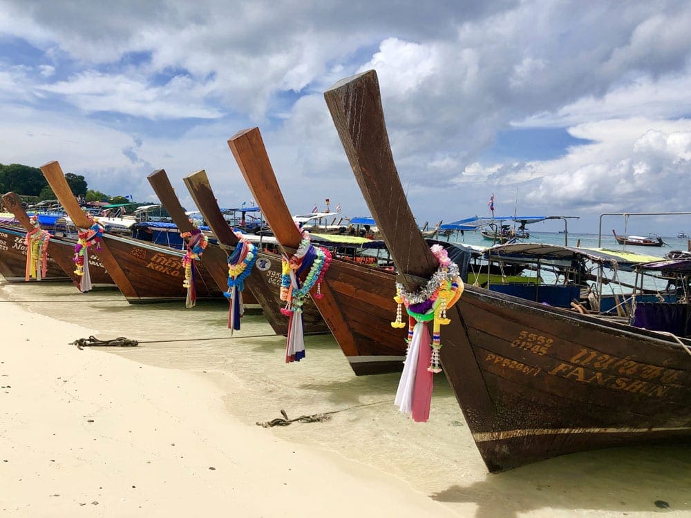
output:
{"label": "orange-brown wooden prow post of the KOKO boat", "polygon": [[[82,207],[79,207],[79,203],[77,203],[72,189],[70,189],[67,180],[65,180],[65,175],[62,173],[60,164],[57,162],[48,162],[41,166],[41,172],[44,173],[50,185],[50,189],[53,189],[57,199],[65,209],[67,215],[72,219],[75,226],[82,229],[91,227],[91,220],[89,220],[86,213],[82,211]],[[96,254],[106,268],[106,271],[108,271],[108,274],[113,278],[113,282],[115,282],[126,298],[138,298],[137,291],[124,274],[124,271],[122,271],[117,260],[115,260],[113,253],[108,249],[107,240],[103,240],[101,247],[102,249],[97,251]]]}

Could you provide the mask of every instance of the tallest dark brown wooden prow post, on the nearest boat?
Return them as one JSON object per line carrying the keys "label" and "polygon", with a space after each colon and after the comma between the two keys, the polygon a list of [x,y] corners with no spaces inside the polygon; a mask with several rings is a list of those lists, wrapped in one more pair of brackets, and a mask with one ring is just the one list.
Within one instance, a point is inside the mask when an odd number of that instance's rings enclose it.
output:
{"label": "tallest dark brown wooden prow post, on the nearest boat", "polygon": [[[417,289],[433,276],[439,263],[415,223],[393,161],[377,73],[370,70],[342,79],[324,97],[360,190],[398,267],[397,280],[407,289]],[[482,429],[486,423],[476,416],[491,414],[493,402],[481,382],[458,305],[451,308],[449,318],[451,323],[443,332],[447,345],[441,353],[444,372],[447,378],[463,380],[462,387],[454,387],[456,398],[468,422]]]}

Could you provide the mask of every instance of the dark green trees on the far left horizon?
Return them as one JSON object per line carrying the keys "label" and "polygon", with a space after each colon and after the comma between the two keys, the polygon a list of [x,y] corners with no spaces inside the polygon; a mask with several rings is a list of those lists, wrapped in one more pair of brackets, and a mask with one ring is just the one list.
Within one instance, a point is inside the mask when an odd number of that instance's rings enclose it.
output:
{"label": "dark green trees on the far left horizon", "polygon": [[[88,184],[82,175],[65,173],[65,180],[72,192],[87,202],[126,203],[129,200],[122,196],[115,198],[100,191],[88,189]],[[0,193],[15,192],[24,196],[36,196],[39,201],[55,200],[55,193],[37,167],[23,164],[0,164]]]}

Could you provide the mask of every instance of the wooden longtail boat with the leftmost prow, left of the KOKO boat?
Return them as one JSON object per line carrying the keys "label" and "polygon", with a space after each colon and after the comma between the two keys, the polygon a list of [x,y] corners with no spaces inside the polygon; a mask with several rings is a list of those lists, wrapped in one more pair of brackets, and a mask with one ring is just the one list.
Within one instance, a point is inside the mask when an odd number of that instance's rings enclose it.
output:
{"label": "wooden longtail boat with the leftmost prow, left of the KOKO boat", "polygon": [[[7,193],[2,197],[3,204],[7,207],[15,219],[29,231],[33,228],[29,215],[21,206],[21,200],[15,193]],[[64,271],[64,274],[72,280],[75,287],[79,289],[81,278],[75,274],[75,263],[73,257],[75,255],[75,242],[64,238],[56,238],[50,236],[48,242],[48,258],[53,258],[59,267]],[[49,259],[50,262],[50,259]],[[89,257],[89,266],[91,269],[91,284],[93,288],[115,288],[115,282],[104,268],[102,262],[96,256]],[[50,266],[49,266],[50,269]]]}

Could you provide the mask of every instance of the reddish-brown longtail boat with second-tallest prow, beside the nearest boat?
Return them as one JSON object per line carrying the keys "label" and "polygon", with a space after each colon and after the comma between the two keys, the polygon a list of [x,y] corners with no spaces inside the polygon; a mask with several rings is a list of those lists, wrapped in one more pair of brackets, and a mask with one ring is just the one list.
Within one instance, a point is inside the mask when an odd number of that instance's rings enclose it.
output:
{"label": "reddish-brown longtail boat with second-tallest prow, beside the nearest boat", "polygon": [[[228,145],[274,236],[290,256],[301,241],[272,169],[258,128],[236,133]],[[377,267],[333,259],[313,298],[355,374],[403,368],[406,344],[390,326],[395,276]]]}

